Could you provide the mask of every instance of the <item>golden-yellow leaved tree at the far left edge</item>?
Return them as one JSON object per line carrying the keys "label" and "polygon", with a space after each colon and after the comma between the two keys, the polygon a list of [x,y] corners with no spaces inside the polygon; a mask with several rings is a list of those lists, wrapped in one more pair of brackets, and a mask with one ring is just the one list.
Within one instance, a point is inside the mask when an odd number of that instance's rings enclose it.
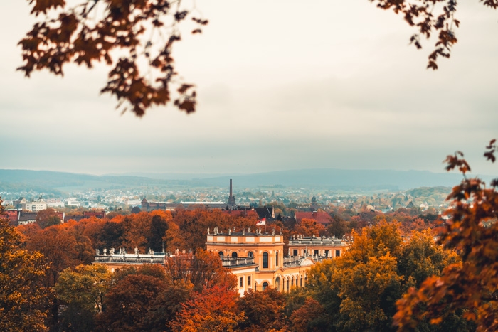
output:
{"label": "golden-yellow leaved tree at the far left edge", "polygon": [[[4,208],[0,200],[0,215]],[[21,234],[0,218],[0,331],[46,331],[40,281],[48,264],[40,252],[20,249]]]}

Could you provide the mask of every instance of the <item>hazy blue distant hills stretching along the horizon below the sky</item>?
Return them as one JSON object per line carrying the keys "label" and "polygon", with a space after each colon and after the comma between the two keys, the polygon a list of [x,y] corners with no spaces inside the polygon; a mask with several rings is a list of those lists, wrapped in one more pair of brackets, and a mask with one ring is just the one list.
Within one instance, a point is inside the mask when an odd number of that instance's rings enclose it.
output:
{"label": "hazy blue distant hills stretching along the horizon below the sky", "polygon": [[[191,174],[194,177],[194,174]],[[280,186],[291,188],[329,188],[351,190],[407,190],[420,187],[452,187],[460,183],[457,173],[432,173],[429,171],[304,169],[275,171],[235,176],[206,178],[148,178],[144,176],[92,176],[88,174],[54,171],[27,171],[0,169],[0,191],[12,188],[54,188],[75,191],[85,188],[171,188],[171,187],[227,187],[230,178],[235,188]],[[489,180],[484,177],[484,180]],[[23,189],[25,190],[25,189]]]}

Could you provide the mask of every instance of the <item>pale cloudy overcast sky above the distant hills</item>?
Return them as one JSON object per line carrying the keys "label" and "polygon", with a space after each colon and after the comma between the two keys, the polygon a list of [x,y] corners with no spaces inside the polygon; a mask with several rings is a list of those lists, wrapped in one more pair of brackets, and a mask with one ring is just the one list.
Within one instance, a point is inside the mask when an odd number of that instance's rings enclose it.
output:
{"label": "pale cloudy overcast sky above the distant hills", "polygon": [[[469,4],[470,2],[470,4]],[[367,0],[202,0],[209,24],[174,48],[198,110],[121,115],[107,71],[30,79],[16,45],[28,1],[0,1],[0,168],[78,173],[257,173],[300,168],[443,171],[459,149],[477,173],[498,138],[498,11],[460,3],[458,43],[426,70],[401,16]],[[489,164],[489,165],[488,165]]]}

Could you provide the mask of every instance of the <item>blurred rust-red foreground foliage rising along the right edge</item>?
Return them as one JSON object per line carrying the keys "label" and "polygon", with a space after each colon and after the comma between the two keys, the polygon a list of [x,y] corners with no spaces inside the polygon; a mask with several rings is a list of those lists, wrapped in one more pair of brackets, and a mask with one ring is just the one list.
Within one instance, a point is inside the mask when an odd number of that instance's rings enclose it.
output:
{"label": "blurred rust-red foreground foliage rising along the right edge", "polygon": [[[494,162],[497,151],[493,139],[484,156]],[[462,262],[450,264],[420,288],[410,288],[398,301],[394,321],[399,331],[417,331],[425,321],[440,326],[461,312],[477,331],[498,331],[498,179],[488,188],[479,178],[467,178],[470,166],[461,152],[446,161],[447,170],[458,168],[464,179],[448,196],[450,219],[441,229],[440,243],[456,250]]]}

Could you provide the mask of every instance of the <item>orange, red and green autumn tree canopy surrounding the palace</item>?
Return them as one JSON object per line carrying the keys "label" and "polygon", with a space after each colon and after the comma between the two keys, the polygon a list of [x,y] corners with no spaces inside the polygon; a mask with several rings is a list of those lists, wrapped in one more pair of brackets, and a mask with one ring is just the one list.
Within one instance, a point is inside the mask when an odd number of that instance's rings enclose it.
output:
{"label": "orange, red and green autumn tree canopy surrounding the palace", "polygon": [[[495,160],[491,141],[484,154]],[[462,154],[447,169],[464,175]],[[248,291],[217,253],[206,229],[255,227],[256,214],[156,210],[48,225],[0,225],[2,331],[495,331],[498,328],[498,179],[464,178],[448,199],[450,219],[409,210],[338,214],[284,225],[292,235],[353,239],[341,257],[309,270],[304,288]],[[2,208],[3,209],[3,208]],[[435,240],[438,237],[438,240]],[[90,264],[95,248],[185,250],[165,264],[114,273]],[[188,251],[187,251],[188,250]],[[182,260],[185,255],[194,259]],[[189,262],[189,263],[185,263]],[[191,262],[196,262],[194,265]],[[189,273],[185,273],[190,271]]]}

